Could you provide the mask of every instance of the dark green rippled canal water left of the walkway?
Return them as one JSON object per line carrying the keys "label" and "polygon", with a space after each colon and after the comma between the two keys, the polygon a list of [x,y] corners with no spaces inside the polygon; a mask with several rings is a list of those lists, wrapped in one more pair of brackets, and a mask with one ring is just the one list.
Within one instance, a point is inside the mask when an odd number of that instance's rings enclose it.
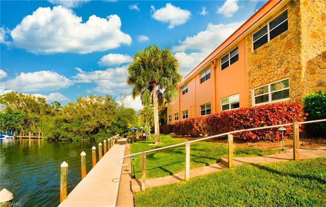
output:
{"label": "dark green rippled canal water left of the walkway", "polygon": [[38,139],[0,140],[0,190],[14,194],[12,206],[58,206],[60,165],[68,163],[68,194],[81,180],[80,153],[92,168],[95,142],[49,142]]}

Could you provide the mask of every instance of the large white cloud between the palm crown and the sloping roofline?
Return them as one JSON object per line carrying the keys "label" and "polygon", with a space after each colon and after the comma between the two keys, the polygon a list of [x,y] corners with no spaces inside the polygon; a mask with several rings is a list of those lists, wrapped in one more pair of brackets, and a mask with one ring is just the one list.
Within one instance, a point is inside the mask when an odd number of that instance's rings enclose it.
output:
{"label": "large white cloud between the palm crown and the sloping roofline", "polygon": [[241,24],[242,22],[216,25],[209,23],[205,31],[179,41],[179,45],[172,47],[172,52],[179,61],[180,73],[186,75],[194,69]]}

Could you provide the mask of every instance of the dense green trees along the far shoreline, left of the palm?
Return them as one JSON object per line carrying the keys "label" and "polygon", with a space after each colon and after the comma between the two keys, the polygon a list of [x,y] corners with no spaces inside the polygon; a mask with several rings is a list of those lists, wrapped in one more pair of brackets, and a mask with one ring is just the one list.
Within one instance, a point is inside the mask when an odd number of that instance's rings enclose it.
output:
{"label": "dense green trees along the far shoreline, left of the palm", "polygon": [[58,101],[47,104],[45,98],[11,91],[0,96],[0,104],[5,106],[1,131],[14,129],[16,135],[42,132],[45,139],[59,141],[103,140],[142,124],[134,109],[110,95],[79,96],[62,107]]}

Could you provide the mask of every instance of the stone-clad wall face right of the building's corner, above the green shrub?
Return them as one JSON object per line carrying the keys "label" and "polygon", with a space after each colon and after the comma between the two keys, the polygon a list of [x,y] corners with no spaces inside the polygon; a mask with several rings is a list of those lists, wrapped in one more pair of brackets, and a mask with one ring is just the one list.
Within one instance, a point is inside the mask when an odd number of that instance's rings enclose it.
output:
{"label": "stone-clad wall face right of the building's corner, above the green shrub", "polygon": [[326,1],[301,0],[302,94],[326,92]]}

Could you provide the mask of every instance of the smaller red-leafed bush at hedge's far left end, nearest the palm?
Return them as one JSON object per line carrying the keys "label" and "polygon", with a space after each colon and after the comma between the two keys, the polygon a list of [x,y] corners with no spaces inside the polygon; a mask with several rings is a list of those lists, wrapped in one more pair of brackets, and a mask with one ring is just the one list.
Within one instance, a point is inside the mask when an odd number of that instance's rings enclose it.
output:
{"label": "smaller red-leafed bush at hedge's far left end, nearest the palm", "polygon": [[199,137],[204,134],[206,119],[189,118],[174,124],[173,130],[177,135]]}

